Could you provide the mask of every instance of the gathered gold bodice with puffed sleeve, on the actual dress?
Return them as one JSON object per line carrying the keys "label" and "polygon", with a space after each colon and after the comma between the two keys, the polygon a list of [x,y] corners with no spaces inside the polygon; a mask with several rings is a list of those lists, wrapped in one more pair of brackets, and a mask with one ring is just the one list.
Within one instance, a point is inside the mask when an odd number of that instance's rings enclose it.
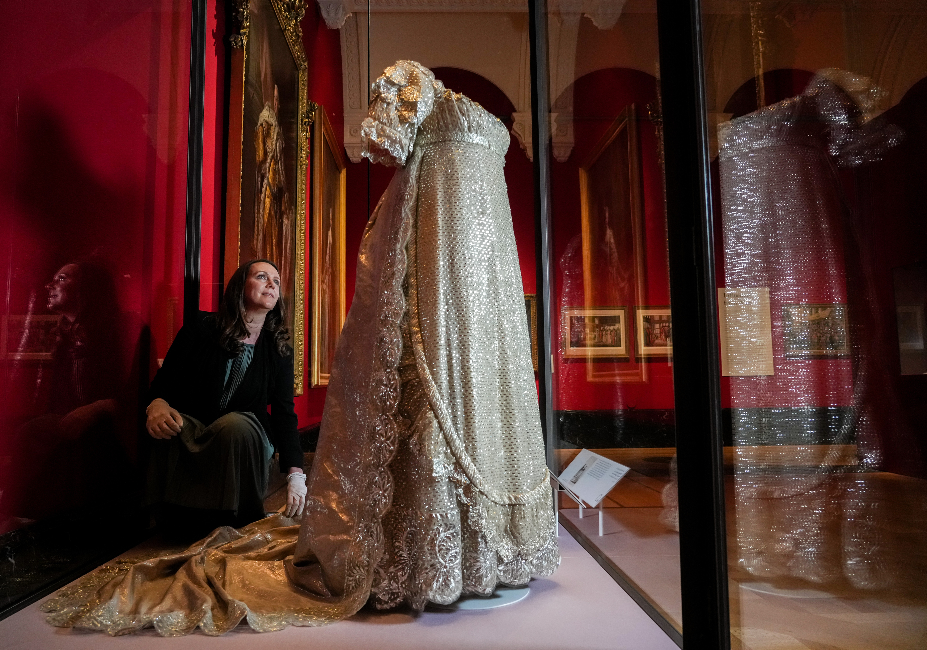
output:
{"label": "gathered gold bodice with puffed sleeve, on the actual dress", "polygon": [[392,167],[403,166],[415,147],[437,142],[482,145],[501,158],[510,144],[499,118],[414,61],[397,61],[373,83],[361,141],[363,156]]}

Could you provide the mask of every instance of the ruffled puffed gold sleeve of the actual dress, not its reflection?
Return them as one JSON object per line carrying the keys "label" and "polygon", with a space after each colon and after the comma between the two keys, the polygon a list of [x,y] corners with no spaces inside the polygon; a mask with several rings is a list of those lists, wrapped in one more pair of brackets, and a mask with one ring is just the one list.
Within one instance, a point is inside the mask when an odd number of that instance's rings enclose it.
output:
{"label": "ruffled puffed gold sleeve of the actual dress, not its reflection", "polygon": [[372,87],[361,124],[362,155],[401,167],[415,145],[415,132],[435,106],[435,75],[415,61],[397,61]]}

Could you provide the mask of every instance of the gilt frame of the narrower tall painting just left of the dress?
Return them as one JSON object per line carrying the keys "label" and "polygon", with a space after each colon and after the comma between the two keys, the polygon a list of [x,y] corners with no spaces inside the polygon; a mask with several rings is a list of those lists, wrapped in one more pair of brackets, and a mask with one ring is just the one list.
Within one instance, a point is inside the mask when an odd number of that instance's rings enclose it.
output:
{"label": "gilt frame of the narrower tall painting just left of the dress", "polygon": [[316,105],[312,121],[312,338],[310,354],[310,387],[328,386],[328,374],[322,372],[322,222],[324,205],[324,155],[328,148],[335,157],[340,176],[340,195],[332,228],[337,236],[336,264],[338,332],[345,322],[345,204],[347,200],[347,163],[342,148],[338,145],[325,109]]}

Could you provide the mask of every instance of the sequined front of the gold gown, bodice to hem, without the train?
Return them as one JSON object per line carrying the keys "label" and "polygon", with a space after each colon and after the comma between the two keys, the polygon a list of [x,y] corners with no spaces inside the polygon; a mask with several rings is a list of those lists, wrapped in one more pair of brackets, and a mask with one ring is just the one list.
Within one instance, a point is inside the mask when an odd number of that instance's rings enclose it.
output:
{"label": "sequined front of the gold gown, bodice to hem, without the train", "polygon": [[550,575],[559,554],[502,173],[509,134],[430,71],[400,67],[435,99],[413,145],[403,424],[373,592],[379,607],[422,608]]}

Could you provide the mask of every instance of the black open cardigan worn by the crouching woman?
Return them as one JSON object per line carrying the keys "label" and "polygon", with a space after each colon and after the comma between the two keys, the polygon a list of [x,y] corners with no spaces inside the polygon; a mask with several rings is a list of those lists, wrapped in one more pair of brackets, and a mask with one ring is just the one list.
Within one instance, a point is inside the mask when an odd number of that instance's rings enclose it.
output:
{"label": "black open cardigan worn by the crouching woman", "polygon": [[[254,358],[228,406],[220,410],[225,363],[232,355],[219,346],[214,314],[199,312],[195,323],[184,324],[171,343],[164,363],[151,381],[148,403],[160,398],[181,414],[210,425],[233,411],[255,414],[280,453],[280,471],[302,467],[302,449],[293,411],[293,355],[282,357],[273,337],[261,332]],[[271,414],[267,413],[267,405]]]}

